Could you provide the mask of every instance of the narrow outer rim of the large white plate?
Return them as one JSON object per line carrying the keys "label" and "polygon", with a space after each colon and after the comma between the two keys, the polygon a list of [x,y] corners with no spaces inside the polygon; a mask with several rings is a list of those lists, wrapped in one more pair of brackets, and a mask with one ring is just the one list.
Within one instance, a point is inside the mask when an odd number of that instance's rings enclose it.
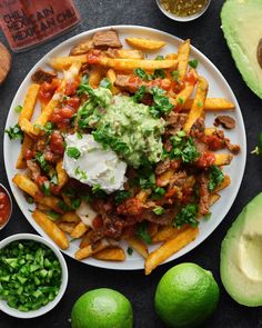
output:
{"label": "narrow outer rim of the large white plate", "polygon": [[[16,95],[13,96],[12,102],[11,102],[10,108],[9,108],[9,111],[8,111],[8,116],[7,116],[4,129],[8,128],[7,125],[8,125],[8,121],[10,119],[10,116],[11,116],[11,109],[13,108],[13,105],[16,105],[14,103],[16,102],[14,100],[16,100],[17,96],[21,92],[21,90],[23,89],[23,85],[27,83],[27,80],[30,78],[31,73],[36,70],[36,68],[39,67],[40,62],[41,63],[42,62],[43,63],[47,62],[47,60],[49,59],[50,56],[52,56],[53,52],[58,51],[60,48],[62,49],[64,46],[67,46],[67,43],[73,42],[73,41],[75,41],[78,39],[81,39],[85,34],[89,36],[89,34],[94,33],[97,31],[102,31],[102,30],[108,30],[108,29],[115,29],[115,30],[119,30],[120,32],[123,29],[140,30],[142,32],[143,31],[150,31],[152,33],[157,33],[157,34],[161,34],[161,36],[164,36],[164,37],[174,39],[174,40],[177,40],[179,42],[182,42],[183,41],[183,39],[181,39],[181,38],[179,38],[177,36],[173,36],[173,34],[171,34],[169,32],[165,32],[165,31],[162,31],[162,30],[159,30],[159,29],[154,29],[154,28],[144,27],[144,26],[133,26],[133,24],[105,26],[105,27],[99,27],[99,28],[95,28],[95,29],[90,29],[90,30],[83,31],[81,33],[78,33],[78,34],[75,34],[75,36],[73,36],[73,37],[64,40],[63,42],[59,43],[58,46],[56,46],[54,48],[52,48],[50,51],[48,51],[28,71],[27,76],[23,78],[20,87],[18,88]],[[229,89],[229,91],[231,93],[231,97],[232,97],[232,99],[233,99],[233,101],[235,103],[235,108],[236,108],[238,113],[239,113],[239,117],[240,117],[240,128],[241,128],[241,130],[243,130],[243,140],[242,140],[243,148],[241,149],[242,171],[240,172],[240,177],[239,177],[238,181],[235,181],[235,183],[234,183],[234,190],[235,190],[234,191],[234,195],[233,195],[233,197],[231,199],[231,203],[230,203],[228,210],[225,210],[223,212],[223,215],[221,216],[222,219],[215,220],[213,222],[212,229],[208,233],[205,233],[205,236],[202,236],[201,232],[200,232],[199,236],[195,239],[195,240],[198,240],[198,242],[195,242],[195,243],[194,242],[189,243],[185,248],[181,249],[178,254],[175,254],[172,257],[168,258],[164,262],[161,264],[161,266],[164,265],[164,264],[168,264],[170,261],[177,260],[177,259],[181,258],[182,256],[184,256],[185,254],[189,254],[191,250],[193,250],[199,245],[201,245],[208,237],[210,237],[214,232],[214,230],[218,228],[218,226],[225,219],[226,215],[229,213],[231,207],[233,206],[233,203],[235,201],[235,198],[236,198],[236,196],[239,193],[239,190],[240,190],[240,187],[241,187],[241,183],[242,183],[242,180],[243,180],[243,176],[244,176],[244,171],[245,171],[245,166],[246,166],[246,132],[245,132],[245,126],[244,126],[244,120],[243,120],[242,111],[241,111],[241,108],[240,108],[239,102],[236,100],[236,97],[235,97],[232,88],[230,87],[230,85],[225,80],[224,76],[220,72],[220,70],[215,67],[215,64],[203,52],[201,52],[200,50],[198,50],[194,46],[191,44],[191,49],[199,57],[203,58],[205,60],[205,62],[208,62],[208,64],[210,66],[210,68],[212,69],[212,71],[215,71],[215,73],[219,76],[219,78],[222,79],[223,85],[226,86],[226,88]],[[7,158],[8,158],[8,156],[7,156],[7,153],[8,153],[7,143],[8,142],[9,142],[8,136],[4,133],[4,137],[3,137],[3,160],[4,160],[6,175],[7,175],[8,182],[9,182],[10,189],[12,191],[13,198],[16,199],[16,202],[17,202],[18,207],[20,208],[21,212],[23,213],[23,216],[26,217],[26,219],[28,220],[28,222],[32,226],[32,228],[40,236],[42,236],[43,238],[48,238],[49,241],[53,242],[52,239],[33,221],[33,219],[31,217],[30,217],[30,219],[28,218],[29,215],[23,212],[23,209],[22,209],[20,202],[18,201],[19,190],[17,190],[17,187],[12,183],[12,177],[10,178],[9,175],[8,175],[8,171],[9,171],[8,170],[8,162],[7,162]],[[74,259],[73,255],[70,254],[68,250],[61,250],[60,249],[60,251],[62,251],[67,256],[69,256],[69,257],[71,257],[71,258]],[[90,266],[93,266],[93,267],[103,268],[103,269],[111,269],[111,270],[112,269],[113,270],[142,270],[142,269],[144,269],[144,260],[143,259],[135,260],[134,261],[135,265],[134,265],[134,262],[133,264],[131,262],[131,266],[130,265],[129,266],[128,265],[124,265],[124,264],[128,262],[128,259],[125,259],[125,261],[123,261],[121,264],[121,266],[119,266],[118,262],[110,262],[110,261],[92,260],[90,262],[89,259],[85,259],[85,260],[80,261],[80,262],[85,264],[85,265],[90,265]]]}

